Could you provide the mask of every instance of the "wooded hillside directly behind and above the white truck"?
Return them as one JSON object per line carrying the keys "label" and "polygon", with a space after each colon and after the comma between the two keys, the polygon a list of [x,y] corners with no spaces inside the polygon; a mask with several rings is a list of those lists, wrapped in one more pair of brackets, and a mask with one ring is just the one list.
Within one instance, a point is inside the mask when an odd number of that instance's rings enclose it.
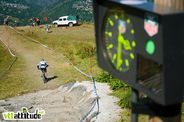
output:
{"label": "wooded hillside directly behind and above the white truck", "polygon": [[82,21],[92,21],[92,0],[62,0],[44,8],[41,15],[47,15],[50,20],[65,15],[79,15]]}

